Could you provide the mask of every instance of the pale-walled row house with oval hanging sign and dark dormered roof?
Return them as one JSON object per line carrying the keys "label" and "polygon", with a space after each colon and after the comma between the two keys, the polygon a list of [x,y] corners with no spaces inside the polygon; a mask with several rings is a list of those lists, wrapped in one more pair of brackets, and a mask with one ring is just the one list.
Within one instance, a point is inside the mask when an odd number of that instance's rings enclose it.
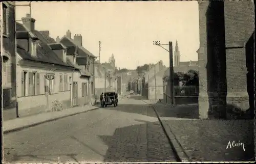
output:
{"label": "pale-walled row house with oval hanging sign and dark dormered roof", "polygon": [[[87,104],[89,88],[80,90],[78,85],[88,84],[90,74],[70,60],[65,45],[53,42],[45,33],[35,30],[35,19],[29,14],[22,21],[16,23],[19,117],[51,111],[56,100],[64,109]],[[14,116],[11,111],[6,115],[11,114]]]}

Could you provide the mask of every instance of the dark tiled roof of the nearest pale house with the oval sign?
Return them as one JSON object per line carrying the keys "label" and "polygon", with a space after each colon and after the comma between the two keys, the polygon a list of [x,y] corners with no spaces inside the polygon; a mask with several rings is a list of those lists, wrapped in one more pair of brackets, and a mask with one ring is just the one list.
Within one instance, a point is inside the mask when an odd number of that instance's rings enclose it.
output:
{"label": "dark tiled roof of the nearest pale house with the oval sign", "polygon": [[[20,23],[16,23],[16,27],[20,31],[27,31],[24,28],[24,26]],[[37,41],[38,44],[36,46],[37,57],[32,57],[31,54],[27,52],[23,47],[23,45],[26,45],[26,39],[17,39],[17,52],[19,56],[22,57],[23,60],[50,63],[74,68],[74,66],[70,62],[63,63],[61,59],[58,58],[57,54],[54,53],[50,46],[48,46],[47,39],[44,36],[42,36],[40,32],[34,30],[31,31],[31,33],[33,33],[33,35],[35,35],[39,39]]]}

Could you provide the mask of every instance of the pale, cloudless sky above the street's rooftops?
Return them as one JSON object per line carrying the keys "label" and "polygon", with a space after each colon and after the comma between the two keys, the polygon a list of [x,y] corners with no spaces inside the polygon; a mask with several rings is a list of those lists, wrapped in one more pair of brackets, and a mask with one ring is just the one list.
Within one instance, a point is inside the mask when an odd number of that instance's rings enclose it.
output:
{"label": "pale, cloudless sky above the street's rooftops", "polygon": [[[29,7],[16,7],[16,20],[29,12]],[[50,31],[54,39],[68,30],[72,38],[81,34],[83,47],[96,57],[101,41],[100,62],[108,62],[113,53],[117,68],[136,69],[160,60],[169,67],[168,51],[153,41],[171,41],[175,47],[178,40],[180,61],[198,60],[197,1],[32,2],[31,13],[36,30]]]}

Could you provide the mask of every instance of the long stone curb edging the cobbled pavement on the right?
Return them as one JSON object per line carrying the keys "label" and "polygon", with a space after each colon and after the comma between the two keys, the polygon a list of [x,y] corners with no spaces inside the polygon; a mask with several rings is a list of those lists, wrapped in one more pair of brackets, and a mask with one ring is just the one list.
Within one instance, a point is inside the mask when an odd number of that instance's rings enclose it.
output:
{"label": "long stone curb edging the cobbled pavement on the right", "polygon": [[162,120],[160,119],[160,117],[159,117],[159,115],[158,115],[154,105],[152,105],[152,104],[150,104],[150,105],[152,106],[154,112],[157,115],[157,119],[158,119],[158,121],[160,122],[160,124],[162,126],[164,134],[166,135],[166,137],[168,139],[168,142],[169,142],[170,146],[172,147],[172,150],[173,150],[173,152],[174,152],[174,154],[175,154],[175,156],[177,158],[177,161],[178,162],[189,162],[188,155],[182,149],[182,146],[180,145],[179,141],[176,139],[176,136],[174,135],[174,133],[172,132],[170,127],[168,125],[166,125],[166,123],[162,122]]}

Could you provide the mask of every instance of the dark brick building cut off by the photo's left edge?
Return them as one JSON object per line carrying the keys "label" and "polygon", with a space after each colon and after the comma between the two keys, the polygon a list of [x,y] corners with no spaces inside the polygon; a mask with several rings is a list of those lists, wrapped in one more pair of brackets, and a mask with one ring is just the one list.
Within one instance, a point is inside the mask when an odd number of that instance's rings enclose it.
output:
{"label": "dark brick building cut off by the photo's left edge", "polygon": [[3,42],[1,43],[2,87],[4,111],[16,106],[16,38],[14,2],[3,2]]}

